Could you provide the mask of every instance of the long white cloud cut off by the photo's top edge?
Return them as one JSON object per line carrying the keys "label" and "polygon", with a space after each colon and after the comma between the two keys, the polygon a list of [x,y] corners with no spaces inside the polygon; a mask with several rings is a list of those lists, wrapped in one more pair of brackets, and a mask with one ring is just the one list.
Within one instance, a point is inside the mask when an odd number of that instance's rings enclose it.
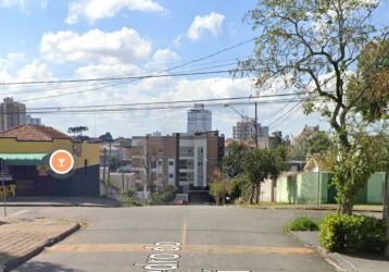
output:
{"label": "long white cloud cut off by the photo's top edge", "polygon": [[80,16],[89,24],[104,17],[113,17],[123,9],[141,12],[168,13],[152,0],[77,0],[68,3],[67,24],[75,24]]}

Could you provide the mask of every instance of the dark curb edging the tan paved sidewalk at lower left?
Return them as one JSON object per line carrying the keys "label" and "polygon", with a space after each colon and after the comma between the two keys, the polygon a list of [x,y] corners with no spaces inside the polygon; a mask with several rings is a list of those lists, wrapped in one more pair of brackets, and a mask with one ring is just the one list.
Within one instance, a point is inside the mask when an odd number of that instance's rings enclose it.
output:
{"label": "dark curb edging the tan paved sidewalk at lower left", "polygon": [[17,268],[18,265],[25,263],[29,259],[33,259],[34,257],[38,256],[41,251],[45,250],[45,248],[51,247],[54,244],[59,243],[60,240],[66,238],[68,235],[77,232],[80,227],[81,227],[81,225],[79,223],[77,223],[72,228],[60,234],[59,236],[54,237],[53,239],[46,242],[43,245],[33,249],[28,254],[26,254],[20,258],[14,258],[14,259],[10,260],[9,262],[7,262],[2,267],[0,267],[0,272],[8,272],[8,271],[11,271],[11,270]]}

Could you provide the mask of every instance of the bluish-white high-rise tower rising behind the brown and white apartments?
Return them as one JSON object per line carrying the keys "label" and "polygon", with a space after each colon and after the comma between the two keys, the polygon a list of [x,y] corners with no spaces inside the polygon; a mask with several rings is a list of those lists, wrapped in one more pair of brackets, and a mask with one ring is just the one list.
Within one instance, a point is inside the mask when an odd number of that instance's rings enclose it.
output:
{"label": "bluish-white high-rise tower rising behind the brown and white apartments", "polygon": [[187,132],[212,131],[212,111],[204,110],[203,103],[195,103],[195,109],[188,111]]}

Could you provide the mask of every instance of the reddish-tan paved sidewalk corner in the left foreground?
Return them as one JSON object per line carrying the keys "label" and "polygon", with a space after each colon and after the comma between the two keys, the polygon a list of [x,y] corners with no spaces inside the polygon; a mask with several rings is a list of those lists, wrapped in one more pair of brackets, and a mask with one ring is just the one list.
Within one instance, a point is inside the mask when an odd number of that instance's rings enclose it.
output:
{"label": "reddish-tan paved sidewalk corner in the left foreground", "polygon": [[0,272],[26,262],[79,227],[67,220],[0,217]]}

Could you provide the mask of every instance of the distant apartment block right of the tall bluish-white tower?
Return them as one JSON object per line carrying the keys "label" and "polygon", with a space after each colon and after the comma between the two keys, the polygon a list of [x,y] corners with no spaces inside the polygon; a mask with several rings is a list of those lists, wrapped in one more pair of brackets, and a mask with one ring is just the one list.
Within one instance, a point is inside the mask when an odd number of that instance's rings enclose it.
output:
{"label": "distant apartment block right of the tall bluish-white tower", "polygon": [[[237,122],[236,126],[233,126],[233,139],[234,140],[252,140],[255,139],[255,120]],[[261,123],[256,124],[258,137],[268,137],[268,126],[261,126]]]}

